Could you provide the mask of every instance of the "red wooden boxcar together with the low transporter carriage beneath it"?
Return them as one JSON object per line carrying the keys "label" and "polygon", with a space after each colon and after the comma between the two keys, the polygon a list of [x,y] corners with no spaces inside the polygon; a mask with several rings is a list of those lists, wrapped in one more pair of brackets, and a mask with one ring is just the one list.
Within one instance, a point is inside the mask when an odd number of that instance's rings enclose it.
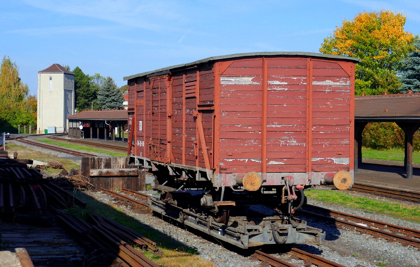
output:
{"label": "red wooden boxcar together with the low transporter carriage beneath it", "polygon": [[322,243],[295,213],[304,190],[353,183],[358,62],[258,52],[125,77],[129,163],[161,192],[151,208],[239,247]]}

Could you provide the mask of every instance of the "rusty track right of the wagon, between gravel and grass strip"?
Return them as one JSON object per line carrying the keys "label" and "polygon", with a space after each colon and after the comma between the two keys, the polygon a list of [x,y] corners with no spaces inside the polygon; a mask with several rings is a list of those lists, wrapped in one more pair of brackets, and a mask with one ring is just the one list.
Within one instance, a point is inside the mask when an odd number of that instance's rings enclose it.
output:
{"label": "rusty track right of the wagon, between gravel and grass strip", "polygon": [[399,242],[404,246],[410,245],[420,250],[420,231],[416,229],[404,228],[312,205],[306,205],[299,212],[330,221],[337,227],[354,229],[361,233],[373,235],[374,237],[384,238],[390,242]]}

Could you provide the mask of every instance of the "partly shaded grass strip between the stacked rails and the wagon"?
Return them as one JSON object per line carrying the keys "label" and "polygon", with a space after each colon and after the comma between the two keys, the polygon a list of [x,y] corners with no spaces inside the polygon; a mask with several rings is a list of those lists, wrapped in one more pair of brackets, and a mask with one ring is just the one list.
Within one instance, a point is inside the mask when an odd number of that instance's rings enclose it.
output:
{"label": "partly shaded grass strip between the stacked rails and the wagon", "polygon": [[150,251],[142,252],[158,265],[168,267],[214,267],[211,263],[197,257],[197,248],[183,245],[158,230],[144,226],[126,215],[119,206],[99,202],[88,191],[76,191],[76,196],[87,203],[87,209],[77,210],[73,208],[69,209],[66,212],[67,214],[84,219],[87,213],[91,213],[90,208],[93,207],[96,213],[104,215],[155,241],[158,248],[163,251],[162,255],[155,255]]}

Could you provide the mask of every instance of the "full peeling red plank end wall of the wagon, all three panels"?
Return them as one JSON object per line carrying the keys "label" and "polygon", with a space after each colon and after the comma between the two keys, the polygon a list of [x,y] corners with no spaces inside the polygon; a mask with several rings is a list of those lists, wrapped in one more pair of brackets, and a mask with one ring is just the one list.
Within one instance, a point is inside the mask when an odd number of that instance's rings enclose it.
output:
{"label": "full peeling red plank end wall of the wagon, all three panels", "polygon": [[335,62],[312,60],[308,116],[308,60],[267,58],[264,129],[262,62],[237,60],[220,75],[220,172],[261,172],[264,164],[267,172],[307,172],[308,156],[311,171],[349,170],[350,76]]}

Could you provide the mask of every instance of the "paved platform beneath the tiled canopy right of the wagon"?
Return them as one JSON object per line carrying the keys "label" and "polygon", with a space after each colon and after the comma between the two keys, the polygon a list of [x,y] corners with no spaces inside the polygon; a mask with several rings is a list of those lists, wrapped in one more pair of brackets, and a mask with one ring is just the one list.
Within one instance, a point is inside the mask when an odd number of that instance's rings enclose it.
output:
{"label": "paved platform beneath the tiled canopy right of the wagon", "polygon": [[403,191],[420,191],[420,164],[413,164],[413,178],[407,179],[403,161],[363,159],[354,182]]}

